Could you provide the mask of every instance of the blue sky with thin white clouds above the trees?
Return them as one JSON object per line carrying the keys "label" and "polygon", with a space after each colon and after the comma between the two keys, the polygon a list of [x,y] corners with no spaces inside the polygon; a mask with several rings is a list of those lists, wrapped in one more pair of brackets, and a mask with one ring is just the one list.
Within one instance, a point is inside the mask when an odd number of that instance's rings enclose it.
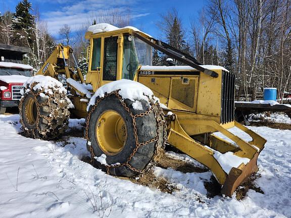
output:
{"label": "blue sky with thin white clouds above the trees", "polygon": [[[15,11],[18,0],[0,0],[0,12]],[[90,20],[90,15],[113,8],[130,9],[132,26],[160,37],[156,23],[160,14],[176,8],[185,28],[189,27],[190,19],[198,17],[207,0],[30,0],[32,7],[40,13],[40,19],[47,22],[50,33],[58,38],[59,29],[68,24],[72,30],[78,29],[82,23]]]}

